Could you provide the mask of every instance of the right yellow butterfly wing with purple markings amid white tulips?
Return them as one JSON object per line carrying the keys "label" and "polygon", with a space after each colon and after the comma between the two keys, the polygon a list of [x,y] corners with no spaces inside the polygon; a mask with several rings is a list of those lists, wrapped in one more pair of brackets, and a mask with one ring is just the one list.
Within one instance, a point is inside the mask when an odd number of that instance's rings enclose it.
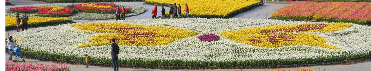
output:
{"label": "right yellow butterfly wing with purple markings amid white tulips", "polygon": [[304,23],[295,25],[277,25],[244,28],[237,31],[223,31],[221,35],[228,39],[259,47],[282,47],[295,45],[319,46],[340,49],[326,45],[326,39],[308,32],[332,32],[353,26],[352,23]]}

